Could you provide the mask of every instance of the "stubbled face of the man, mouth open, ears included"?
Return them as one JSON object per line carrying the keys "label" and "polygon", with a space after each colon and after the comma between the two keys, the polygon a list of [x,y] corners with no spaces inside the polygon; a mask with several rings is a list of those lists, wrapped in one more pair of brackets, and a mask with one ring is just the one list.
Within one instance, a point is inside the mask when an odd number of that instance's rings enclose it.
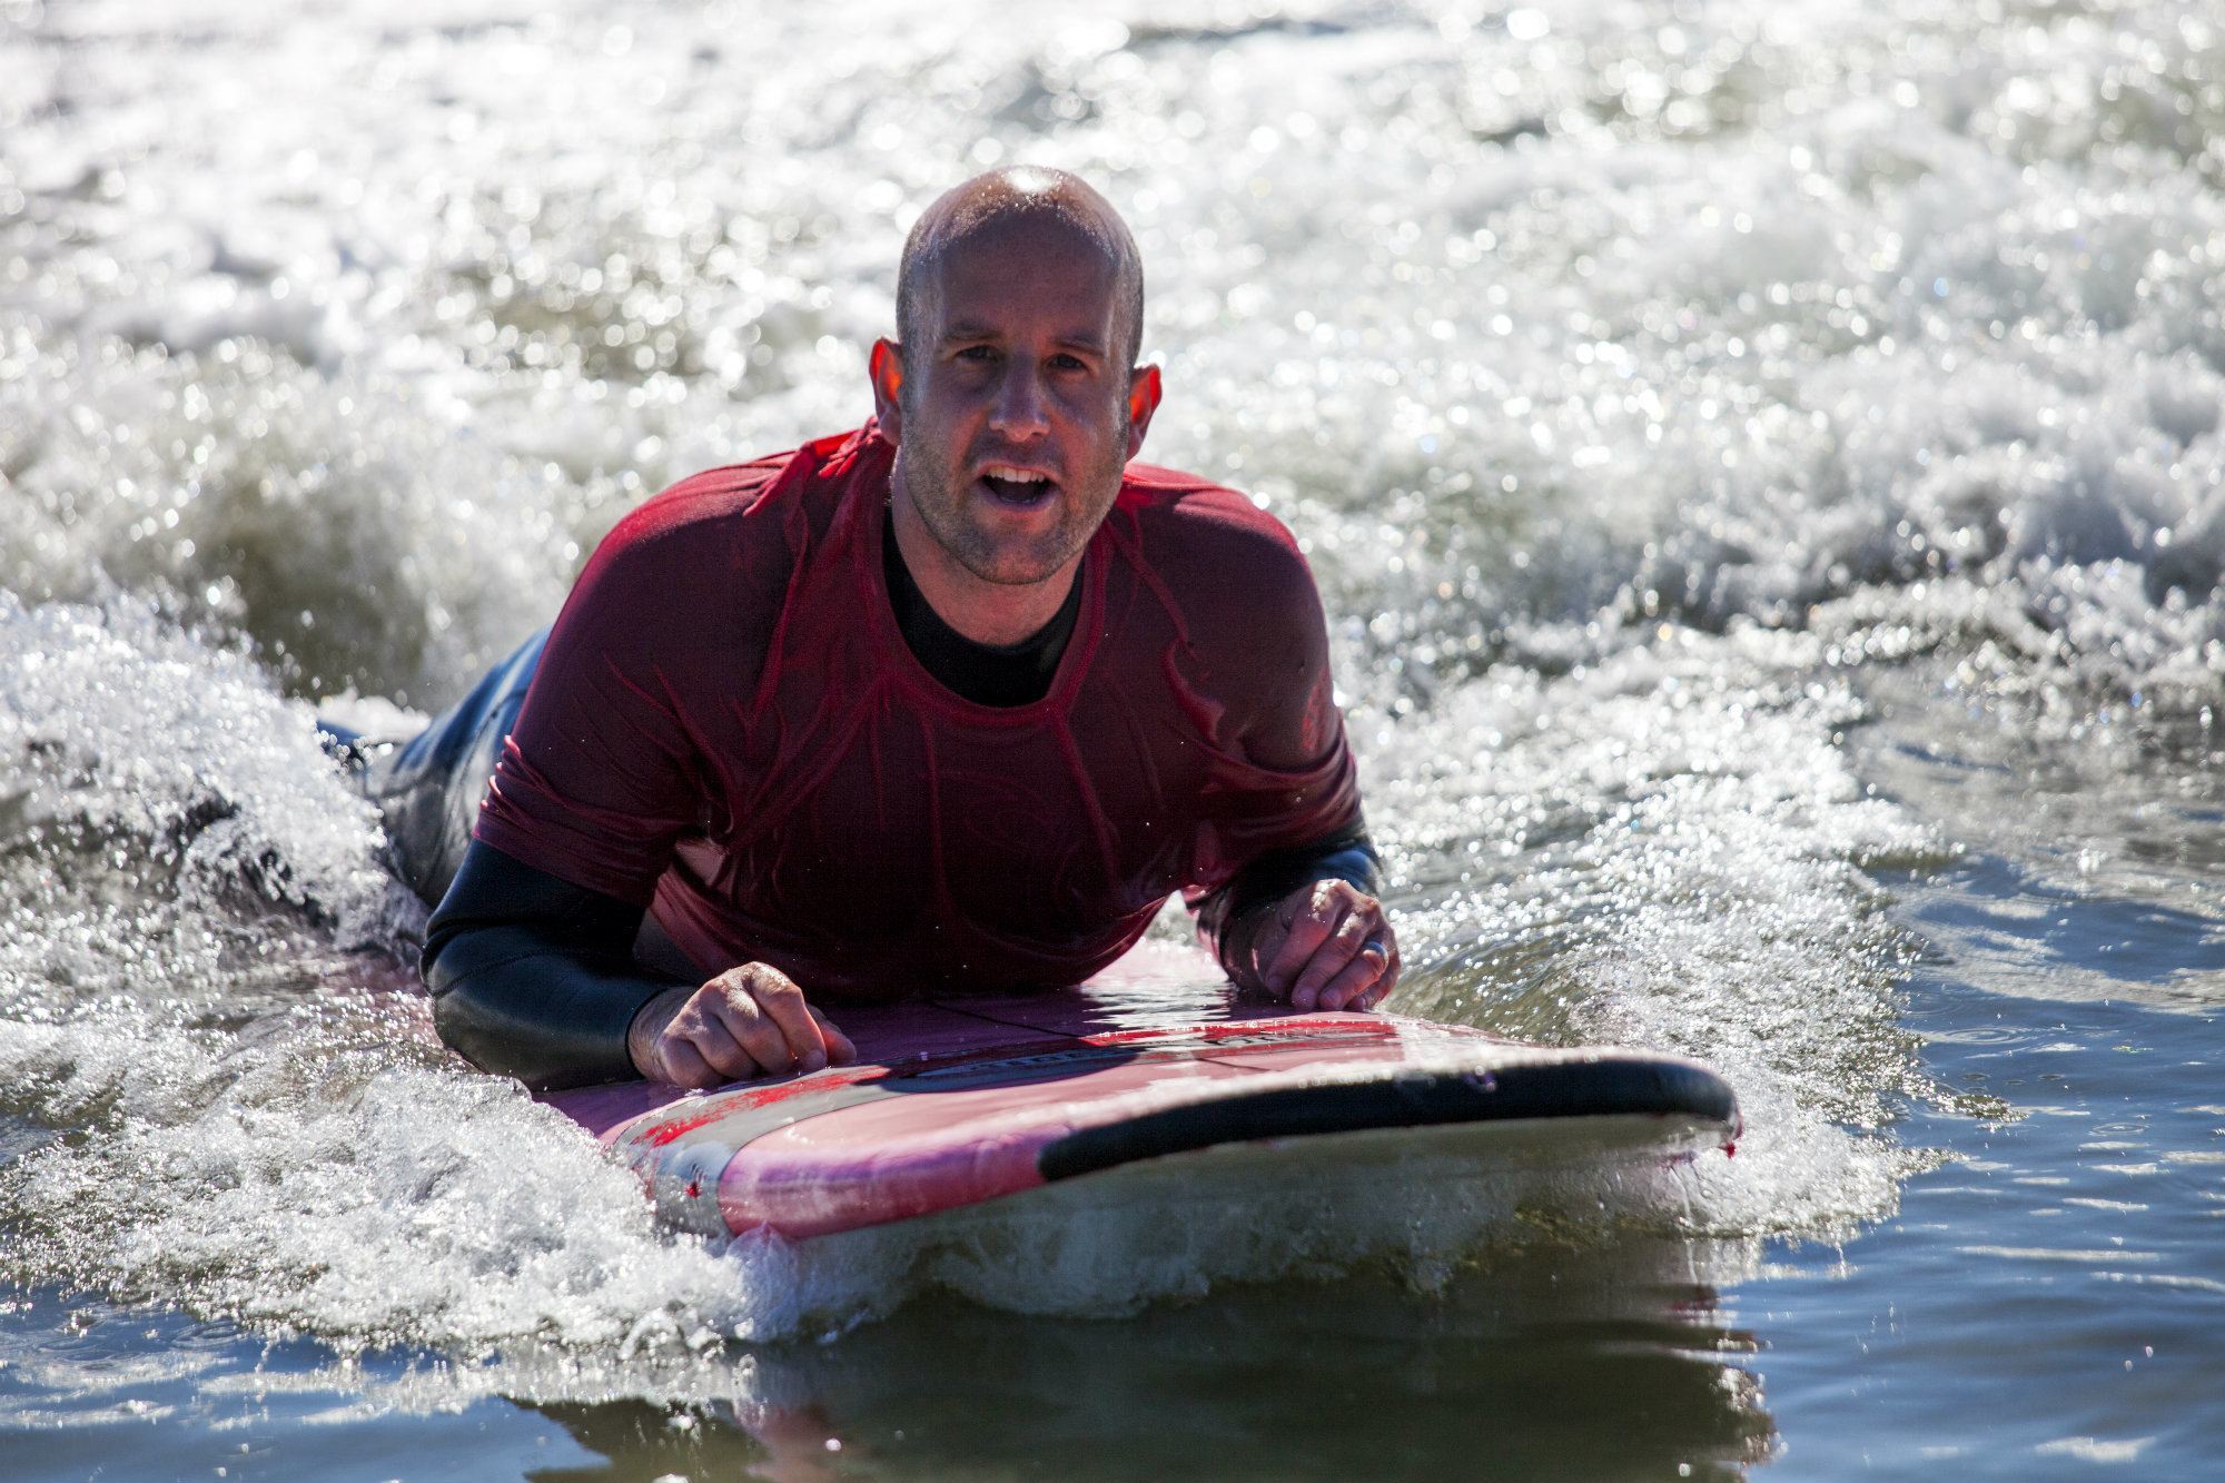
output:
{"label": "stubbled face of the man, mouth open, ears included", "polygon": [[1012,218],[952,243],[923,287],[901,363],[886,343],[874,356],[897,494],[972,577],[1050,581],[1112,508],[1157,405],[1157,372],[1126,363],[1110,254]]}

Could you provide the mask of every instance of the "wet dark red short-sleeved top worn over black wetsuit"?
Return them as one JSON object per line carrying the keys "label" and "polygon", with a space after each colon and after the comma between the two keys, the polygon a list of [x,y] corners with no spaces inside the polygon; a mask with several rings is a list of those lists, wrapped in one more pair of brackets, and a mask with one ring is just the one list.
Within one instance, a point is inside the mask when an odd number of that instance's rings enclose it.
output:
{"label": "wet dark red short-sleeved top worn over black wetsuit", "polygon": [[1050,693],[932,679],[863,430],[619,521],[550,632],[476,837],[812,998],[1077,984],[1173,891],[1359,824],[1322,603],[1246,497],[1128,465]]}

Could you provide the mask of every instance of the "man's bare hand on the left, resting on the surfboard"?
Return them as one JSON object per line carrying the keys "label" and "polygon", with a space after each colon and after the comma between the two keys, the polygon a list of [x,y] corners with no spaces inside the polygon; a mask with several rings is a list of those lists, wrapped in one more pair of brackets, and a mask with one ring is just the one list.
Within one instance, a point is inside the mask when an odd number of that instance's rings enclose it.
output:
{"label": "man's bare hand on the left, resting on the surfboard", "polygon": [[674,1087],[723,1087],[857,1060],[850,1038],[765,962],[728,969],[701,989],[659,993],[634,1015],[625,1053],[641,1076]]}

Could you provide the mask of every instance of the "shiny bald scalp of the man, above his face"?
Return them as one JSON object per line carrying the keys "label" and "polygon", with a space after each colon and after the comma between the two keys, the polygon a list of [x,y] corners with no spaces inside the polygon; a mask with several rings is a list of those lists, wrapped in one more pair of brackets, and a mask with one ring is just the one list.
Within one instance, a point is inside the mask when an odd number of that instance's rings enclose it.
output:
{"label": "shiny bald scalp of the man, above his face", "polygon": [[897,343],[928,341],[926,298],[941,263],[968,243],[1010,227],[1028,227],[1086,243],[1112,269],[1119,312],[1115,350],[1135,365],[1144,347],[1144,258],[1119,212],[1079,176],[1039,165],[1015,165],[975,176],[943,191],[912,225],[897,267]]}

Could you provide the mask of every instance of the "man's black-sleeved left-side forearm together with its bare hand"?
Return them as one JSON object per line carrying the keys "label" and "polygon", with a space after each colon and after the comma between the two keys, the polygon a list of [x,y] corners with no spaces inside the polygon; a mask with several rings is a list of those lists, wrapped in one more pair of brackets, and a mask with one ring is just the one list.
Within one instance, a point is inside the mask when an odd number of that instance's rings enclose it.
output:
{"label": "man's black-sleeved left-side forearm together with its bare hand", "polygon": [[650,1080],[719,1087],[854,1060],[770,964],[705,984],[634,964],[641,909],[474,839],[425,933],[441,1038],[534,1091]]}

